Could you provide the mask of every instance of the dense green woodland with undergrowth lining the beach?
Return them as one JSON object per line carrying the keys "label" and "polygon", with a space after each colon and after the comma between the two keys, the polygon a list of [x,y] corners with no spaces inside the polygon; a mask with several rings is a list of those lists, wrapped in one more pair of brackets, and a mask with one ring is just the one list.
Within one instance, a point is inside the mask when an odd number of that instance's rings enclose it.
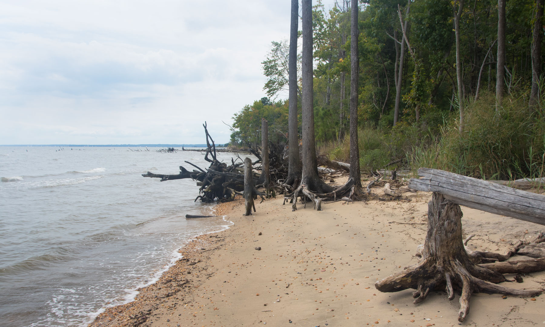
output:
{"label": "dense green woodland with undergrowth lining the beach", "polygon": [[[360,1],[361,170],[390,164],[489,179],[543,177],[542,16],[543,0]],[[330,10],[314,2],[312,27],[316,144],[348,162],[350,1]],[[234,115],[231,146],[260,144],[262,118],[270,143],[287,145],[288,38],[271,40],[262,63],[267,97]],[[298,139],[300,53],[299,45]]]}

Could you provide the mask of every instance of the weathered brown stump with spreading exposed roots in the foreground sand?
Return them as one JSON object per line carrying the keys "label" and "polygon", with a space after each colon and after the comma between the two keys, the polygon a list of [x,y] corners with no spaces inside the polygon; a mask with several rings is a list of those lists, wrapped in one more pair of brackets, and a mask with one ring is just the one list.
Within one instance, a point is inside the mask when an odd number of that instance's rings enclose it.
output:
{"label": "weathered brown stump with spreading exposed roots in the foreground sand", "polygon": [[462,211],[433,193],[428,203],[428,233],[419,263],[375,283],[381,292],[398,292],[413,288],[414,304],[426,299],[434,289],[446,289],[449,299],[461,292],[458,320],[463,322],[469,312],[472,293],[505,294],[533,297],[541,291],[526,291],[496,285],[507,281],[501,273],[483,268],[471,260],[462,241]]}

